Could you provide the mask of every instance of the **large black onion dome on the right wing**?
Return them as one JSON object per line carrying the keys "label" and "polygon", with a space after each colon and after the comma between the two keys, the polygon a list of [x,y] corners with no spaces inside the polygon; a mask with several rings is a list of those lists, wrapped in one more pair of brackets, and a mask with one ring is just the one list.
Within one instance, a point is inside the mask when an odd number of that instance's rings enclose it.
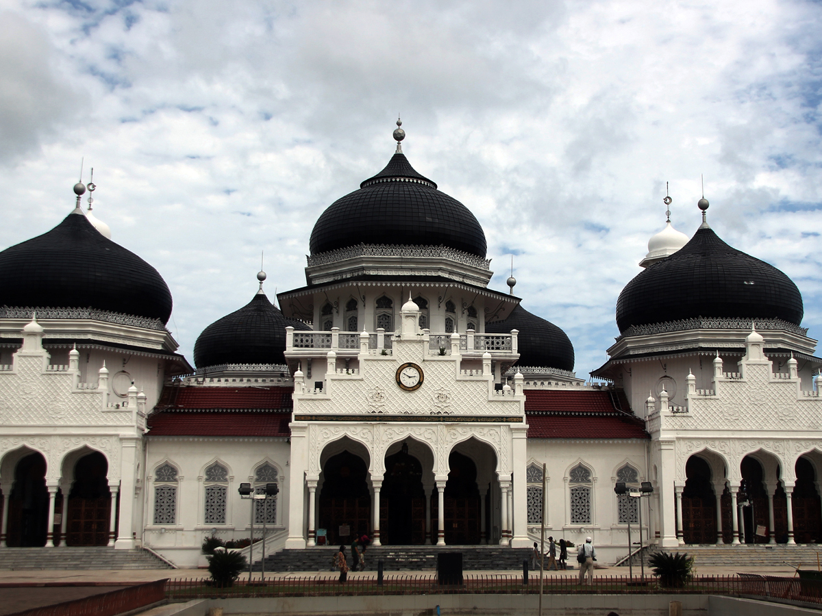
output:
{"label": "large black onion dome on the right wing", "polygon": [[679,251],[640,272],[617,300],[617,326],[696,317],[783,319],[800,324],[797,285],[773,265],[700,228]]}

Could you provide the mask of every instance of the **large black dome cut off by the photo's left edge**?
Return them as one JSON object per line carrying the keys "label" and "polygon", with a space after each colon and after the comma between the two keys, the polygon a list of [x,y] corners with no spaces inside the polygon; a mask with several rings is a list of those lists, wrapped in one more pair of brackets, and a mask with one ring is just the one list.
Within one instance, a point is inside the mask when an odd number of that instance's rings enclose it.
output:
{"label": "large black dome cut off by the photo's left edge", "polygon": [[72,212],[51,231],[0,252],[0,306],[90,307],[165,324],[172,301],[156,269]]}

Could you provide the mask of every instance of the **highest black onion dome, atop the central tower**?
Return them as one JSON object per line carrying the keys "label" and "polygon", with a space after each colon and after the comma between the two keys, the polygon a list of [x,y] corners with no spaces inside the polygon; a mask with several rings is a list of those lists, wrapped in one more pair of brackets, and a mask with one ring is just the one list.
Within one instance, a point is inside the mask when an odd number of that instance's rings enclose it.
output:
{"label": "highest black onion dome, atop the central tower", "polygon": [[310,246],[316,255],[359,244],[442,245],[483,258],[486,252],[477,218],[458,200],[437,191],[400,153],[360,184],[360,190],[321,214]]}

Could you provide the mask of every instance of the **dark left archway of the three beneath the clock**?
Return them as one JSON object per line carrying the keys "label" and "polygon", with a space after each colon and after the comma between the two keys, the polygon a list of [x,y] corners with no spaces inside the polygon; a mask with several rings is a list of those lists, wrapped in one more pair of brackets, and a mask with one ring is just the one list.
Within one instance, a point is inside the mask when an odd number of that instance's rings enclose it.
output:
{"label": "dark left archway of the three beneath the clock", "polygon": [[355,536],[370,536],[371,490],[367,476],[366,462],[347,448],[323,464],[319,527],[326,530],[331,545],[348,544]]}

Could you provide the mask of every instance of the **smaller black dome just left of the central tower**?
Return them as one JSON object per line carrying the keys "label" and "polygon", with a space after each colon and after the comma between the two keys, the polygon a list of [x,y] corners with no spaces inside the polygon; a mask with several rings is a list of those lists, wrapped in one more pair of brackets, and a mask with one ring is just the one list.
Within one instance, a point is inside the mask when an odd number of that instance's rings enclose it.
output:
{"label": "smaller black dome just left of the central tower", "polygon": [[265,293],[257,293],[240,310],[216,320],[194,345],[197,368],[224,364],[284,364],[285,328],[311,329],[286,319]]}

